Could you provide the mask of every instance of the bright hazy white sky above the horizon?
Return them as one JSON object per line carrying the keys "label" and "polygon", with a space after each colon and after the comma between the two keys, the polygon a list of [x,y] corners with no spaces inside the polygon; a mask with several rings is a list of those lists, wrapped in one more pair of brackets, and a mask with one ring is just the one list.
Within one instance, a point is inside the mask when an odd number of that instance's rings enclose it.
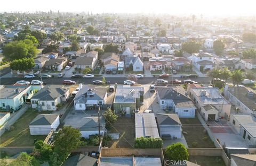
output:
{"label": "bright hazy white sky above the horizon", "polygon": [[1,12],[169,13],[256,15],[255,0],[1,0]]}

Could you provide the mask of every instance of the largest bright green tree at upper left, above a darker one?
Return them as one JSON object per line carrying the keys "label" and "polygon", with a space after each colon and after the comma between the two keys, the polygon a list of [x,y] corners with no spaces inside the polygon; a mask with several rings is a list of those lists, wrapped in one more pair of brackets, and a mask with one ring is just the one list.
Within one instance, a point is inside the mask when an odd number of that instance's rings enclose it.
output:
{"label": "largest bright green tree at upper left, above a darker one", "polygon": [[36,47],[31,40],[20,40],[7,43],[3,49],[3,54],[10,60],[22,58],[34,58]]}

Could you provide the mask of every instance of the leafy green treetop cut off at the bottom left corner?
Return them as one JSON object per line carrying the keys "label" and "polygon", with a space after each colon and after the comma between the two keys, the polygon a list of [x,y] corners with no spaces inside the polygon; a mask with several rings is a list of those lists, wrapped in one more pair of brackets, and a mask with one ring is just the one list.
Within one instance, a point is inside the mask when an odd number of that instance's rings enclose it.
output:
{"label": "leafy green treetop cut off at the bottom left corner", "polygon": [[9,164],[9,166],[39,166],[40,163],[34,156],[30,156],[26,152],[22,152],[17,159]]}

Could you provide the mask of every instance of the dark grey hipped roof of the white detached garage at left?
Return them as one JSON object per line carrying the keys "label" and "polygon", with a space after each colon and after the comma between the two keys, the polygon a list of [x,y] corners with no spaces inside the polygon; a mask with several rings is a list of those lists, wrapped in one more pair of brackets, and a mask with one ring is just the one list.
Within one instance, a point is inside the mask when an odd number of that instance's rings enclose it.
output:
{"label": "dark grey hipped roof of the white detached garage at left", "polygon": [[59,114],[39,114],[31,121],[29,126],[37,125],[52,125],[52,123],[59,117]]}

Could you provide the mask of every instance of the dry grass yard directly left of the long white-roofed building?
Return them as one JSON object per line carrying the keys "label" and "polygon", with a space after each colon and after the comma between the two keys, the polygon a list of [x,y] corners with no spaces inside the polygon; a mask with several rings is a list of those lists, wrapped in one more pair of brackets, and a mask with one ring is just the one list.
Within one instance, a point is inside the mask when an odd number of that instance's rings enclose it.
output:
{"label": "dry grass yard directly left of the long white-roofed building", "polygon": [[118,117],[114,127],[108,131],[109,133],[119,133],[119,139],[108,141],[106,146],[110,148],[133,148],[135,138],[134,118]]}

